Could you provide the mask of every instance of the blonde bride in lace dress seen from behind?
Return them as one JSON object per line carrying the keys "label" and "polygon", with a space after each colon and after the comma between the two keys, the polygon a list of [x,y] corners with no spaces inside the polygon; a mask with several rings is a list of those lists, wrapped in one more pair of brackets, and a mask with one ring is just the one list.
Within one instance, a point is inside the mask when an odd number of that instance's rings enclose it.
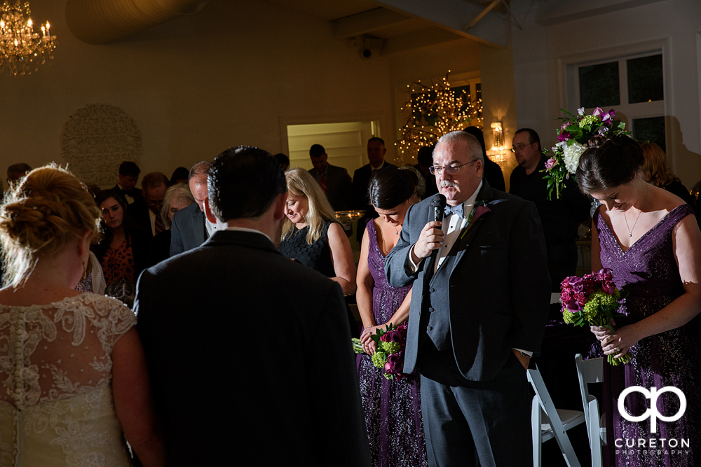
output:
{"label": "blonde bride in lace dress seen from behind", "polygon": [[0,208],[0,466],[165,465],[144,351],[121,302],[74,287],[100,210],[64,169],[34,169]]}

